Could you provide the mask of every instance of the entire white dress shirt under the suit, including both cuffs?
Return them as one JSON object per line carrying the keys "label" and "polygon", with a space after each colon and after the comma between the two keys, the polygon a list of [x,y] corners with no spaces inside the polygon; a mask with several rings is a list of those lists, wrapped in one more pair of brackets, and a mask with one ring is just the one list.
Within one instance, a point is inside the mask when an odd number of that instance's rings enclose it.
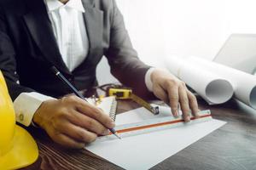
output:
{"label": "entire white dress shirt under the suit, including both cuffs", "polygon": [[[83,13],[86,14],[81,0],[69,0],[66,4],[58,0],[44,0],[48,8],[49,19],[55,34],[61,57],[69,71],[81,64],[89,51],[89,40],[86,33]],[[152,91],[150,79],[154,69],[147,71],[146,86]],[[16,121],[29,126],[38,107],[48,99],[44,94],[22,93],[15,99]]]}

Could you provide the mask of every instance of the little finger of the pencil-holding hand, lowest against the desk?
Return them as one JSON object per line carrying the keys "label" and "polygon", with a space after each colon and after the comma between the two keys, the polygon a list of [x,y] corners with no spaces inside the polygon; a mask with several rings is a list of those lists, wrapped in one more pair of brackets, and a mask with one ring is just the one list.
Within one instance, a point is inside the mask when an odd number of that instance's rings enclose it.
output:
{"label": "little finger of the pencil-holding hand, lowest against the desk", "polygon": [[85,144],[83,142],[71,139],[66,134],[58,133],[51,137],[56,143],[61,144],[67,148],[81,149],[84,148]]}

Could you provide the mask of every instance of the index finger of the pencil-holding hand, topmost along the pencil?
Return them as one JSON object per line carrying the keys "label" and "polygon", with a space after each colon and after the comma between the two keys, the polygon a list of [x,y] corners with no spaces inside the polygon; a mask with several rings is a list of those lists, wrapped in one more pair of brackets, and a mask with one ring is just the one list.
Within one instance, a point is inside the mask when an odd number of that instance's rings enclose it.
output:
{"label": "index finger of the pencil-holding hand, topmost along the pencil", "polygon": [[96,121],[102,123],[104,127],[113,128],[115,126],[113,120],[108,116],[108,114],[105,114],[103,111],[96,108],[96,106],[84,102],[83,99],[78,99],[78,105],[76,106],[79,112],[96,119]]}

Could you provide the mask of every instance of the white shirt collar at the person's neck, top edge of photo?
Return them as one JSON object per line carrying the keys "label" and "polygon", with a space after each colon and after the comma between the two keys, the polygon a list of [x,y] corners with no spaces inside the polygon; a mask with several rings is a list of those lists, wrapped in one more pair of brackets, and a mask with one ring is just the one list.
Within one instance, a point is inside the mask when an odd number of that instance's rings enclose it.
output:
{"label": "white shirt collar at the person's neck, top edge of photo", "polygon": [[49,12],[61,7],[69,7],[83,13],[85,12],[84,6],[81,0],[69,0],[66,4],[61,3],[59,0],[45,0],[45,3],[47,5]]}

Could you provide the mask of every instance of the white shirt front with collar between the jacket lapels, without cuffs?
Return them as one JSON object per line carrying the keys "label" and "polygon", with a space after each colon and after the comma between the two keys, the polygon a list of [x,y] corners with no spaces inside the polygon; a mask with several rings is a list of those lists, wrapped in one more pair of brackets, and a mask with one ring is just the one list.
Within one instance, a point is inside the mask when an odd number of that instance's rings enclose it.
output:
{"label": "white shirt front with collar between the jacket lapels, without cuffs", "polygon": [[66,4],[57,0],[45,2],[62,59],[69,71],[73,71],[83,62],[89,50],[83,4],[81,0],[70,0]]}

